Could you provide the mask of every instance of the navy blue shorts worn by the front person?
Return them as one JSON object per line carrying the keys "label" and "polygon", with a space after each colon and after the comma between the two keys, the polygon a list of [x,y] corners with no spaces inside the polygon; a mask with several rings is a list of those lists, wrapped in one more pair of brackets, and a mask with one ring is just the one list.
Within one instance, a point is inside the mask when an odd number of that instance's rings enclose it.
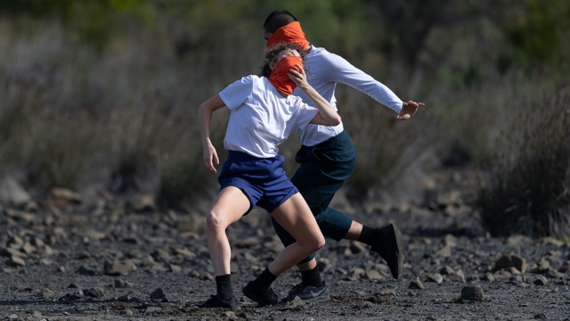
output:
{"label": "navy blue shorts worn by the front person", "polygon": [[285,158],[258,158],[246,152],[229,151],[217,181],[220,191],[227,186],[239,188],[249,199],[249,210],[255,205],[273,212],[295,193],[297,187],[283,170]]}

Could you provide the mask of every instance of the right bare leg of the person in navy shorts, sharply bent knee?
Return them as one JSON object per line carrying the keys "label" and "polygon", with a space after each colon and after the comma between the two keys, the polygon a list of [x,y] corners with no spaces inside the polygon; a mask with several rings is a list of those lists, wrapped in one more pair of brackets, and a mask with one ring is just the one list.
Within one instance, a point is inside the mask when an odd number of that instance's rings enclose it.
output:
{"label": "right bare leg of the person in navy shorts, sharply bent knee", "polygon": [[296,243],[283,249],[269,265],[270,272],[274,276],[279,276],[307,255],[320,250],[325,240],[313,213],[300,193],[294,194],[277,210],[273,210],[272,216],[297,240]]}

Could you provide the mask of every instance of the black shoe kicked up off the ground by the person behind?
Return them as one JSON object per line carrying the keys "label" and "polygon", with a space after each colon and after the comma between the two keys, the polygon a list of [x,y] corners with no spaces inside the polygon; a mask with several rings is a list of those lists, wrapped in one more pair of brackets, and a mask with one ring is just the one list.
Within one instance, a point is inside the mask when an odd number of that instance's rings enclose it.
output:
{"label": "black shoe kicked up off the ground by the person behind", "polygon": [[394,224],[376,229],[377,237],[371,251],[380,254],[390,268],[390,273],[397,280],[402,274],[403,251],[400,245],[400,231]]}

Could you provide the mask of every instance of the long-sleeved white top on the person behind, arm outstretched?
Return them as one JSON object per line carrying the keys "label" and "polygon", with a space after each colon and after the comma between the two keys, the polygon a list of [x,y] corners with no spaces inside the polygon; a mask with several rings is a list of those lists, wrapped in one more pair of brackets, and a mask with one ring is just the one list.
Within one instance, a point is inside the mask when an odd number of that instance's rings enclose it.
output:
{"label": "long-sleeved white top on the person behind, arm outstretched", "polygon": [[[392,90],[362,70],[354,67],[338,54],[329,53],[324,48],[311,45],[311,51],[305,56],[303,65],[308,83],[328,100],[335,109],[337,109],[335,88],[337,83],[341,83],[370,95],[374,100],[396,113],[400,113],[402,110],[403,102]],[[300,90],[296,89],[293,95],[297,95],[305,103],[313,105],[313,102]],[[309,124],[305,128],[299,129],[298,132],[301,136],[301,144],[314,146],[328,140],[330,137],[337,136],[343,130],[342,123],[335,127]]]}

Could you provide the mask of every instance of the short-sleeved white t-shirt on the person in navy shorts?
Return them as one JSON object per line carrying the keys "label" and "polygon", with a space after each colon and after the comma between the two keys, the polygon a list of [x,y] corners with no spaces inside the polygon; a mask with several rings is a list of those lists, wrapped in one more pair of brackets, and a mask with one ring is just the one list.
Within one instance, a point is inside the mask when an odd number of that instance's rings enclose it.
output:
{"label": "short-sleeved white t-shirt on the person in navy shorts", "polygon": [[295,95],[284,98],[268,78],[254,75],[233,82],[219,95],[232,111],[224,148],[259,158],[277,156],[277,145],[294,129],[305,128],[318,112]]}

